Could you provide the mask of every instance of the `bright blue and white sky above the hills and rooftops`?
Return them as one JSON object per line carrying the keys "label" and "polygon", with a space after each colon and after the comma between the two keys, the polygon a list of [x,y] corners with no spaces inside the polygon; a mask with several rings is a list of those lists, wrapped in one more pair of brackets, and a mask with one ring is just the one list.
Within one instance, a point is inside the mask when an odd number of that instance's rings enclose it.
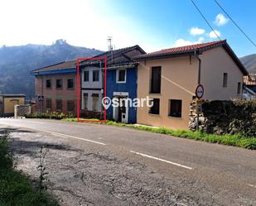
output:
{"label": "bright blue and white sky above the hills and rooftops", "polygon": [[[64,39],[73,46],[108,50],[139,45],[146,52],[227,39],[236,55],[256,47],[234,26],[214,0],[0,0],[0,46],[51,45]],[[256,1],[218,0],[256,42]]]}

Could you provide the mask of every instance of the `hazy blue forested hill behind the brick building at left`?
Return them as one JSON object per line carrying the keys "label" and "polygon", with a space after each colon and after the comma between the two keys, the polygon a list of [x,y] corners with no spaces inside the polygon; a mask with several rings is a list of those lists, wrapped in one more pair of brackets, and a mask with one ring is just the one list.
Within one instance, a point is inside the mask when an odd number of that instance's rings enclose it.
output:
{"label": "hazy blue forested hill behind the brick building at left", "polygon": [[77,57],[99,55],[103,51],[79,46],[70,46],[64,40],[57,40],[51,46],[26,45],[0,47],[0,93],[25,93],[34,96],[34,77],[31,69],[53,65]]}

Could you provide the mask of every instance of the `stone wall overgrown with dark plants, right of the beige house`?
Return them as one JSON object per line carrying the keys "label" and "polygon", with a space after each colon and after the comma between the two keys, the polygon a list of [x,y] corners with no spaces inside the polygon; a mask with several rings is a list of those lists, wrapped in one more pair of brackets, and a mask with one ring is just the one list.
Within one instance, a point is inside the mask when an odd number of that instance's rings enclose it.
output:
{"label": "stone wall overgrown with dark plants, right of the beige house", "polygon": [[[191,103],[189,128],[196,131],[196,102]],[[215,134],[256,137],[256,100],[206,101],[199,114],[199,129]]]}

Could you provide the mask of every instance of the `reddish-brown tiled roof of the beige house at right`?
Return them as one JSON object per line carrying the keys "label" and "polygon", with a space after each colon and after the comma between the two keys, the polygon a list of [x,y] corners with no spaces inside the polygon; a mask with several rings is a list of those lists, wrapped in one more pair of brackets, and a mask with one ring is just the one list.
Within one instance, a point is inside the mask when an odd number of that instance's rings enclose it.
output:
{"label": "reddish-brown tiled roof of the beige house at right", "polygon": [[201,54],[205,50],[210,50],[218,46],[223,46],[225,50],[229,53],[231,58],[234,60],[236,65],[238,65],[239,69],[243,72],[244,75],[248,74],[248,71],[245,69],[244,65],[241,63],[239,58],[234,54],[234,51],[230,48],[229,44],[226,40],[221,41],[211,41],[196,45],[190,46],[179,46],[173,47],[165,50],[157,50],[151,53],[147,53],[145,55],[135,56],[134,60],[156,60],[168,57],[174,57],[179,55],[195,55]]}

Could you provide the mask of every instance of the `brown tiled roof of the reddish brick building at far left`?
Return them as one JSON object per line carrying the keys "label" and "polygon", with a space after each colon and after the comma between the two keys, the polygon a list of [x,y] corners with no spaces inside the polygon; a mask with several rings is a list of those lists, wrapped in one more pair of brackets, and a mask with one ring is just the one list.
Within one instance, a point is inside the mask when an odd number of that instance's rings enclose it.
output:
{"label": "brown tiled roof of the reddish brick building at far left", "polygon": [[75,69],[76,60],[66,60],[55,65],[46,66],[40,69],[31,70],[31,73],[43,72],[43,71],[52,71],[52,70],[61,70],[61,69]]}

